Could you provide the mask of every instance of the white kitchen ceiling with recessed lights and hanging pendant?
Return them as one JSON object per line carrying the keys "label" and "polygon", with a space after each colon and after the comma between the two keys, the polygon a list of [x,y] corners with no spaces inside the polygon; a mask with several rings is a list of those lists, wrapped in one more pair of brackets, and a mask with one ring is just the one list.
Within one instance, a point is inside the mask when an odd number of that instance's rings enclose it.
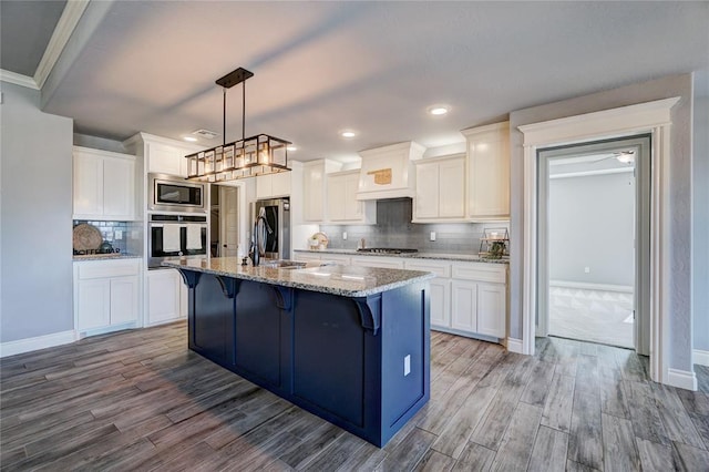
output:
{"label": "white kitchen ceiling with recessed lights and hanging pendant", "polygon": [[[301,161],[410,140],[428,147],[460,142],[459,130],[514,110],[709,69],[706,1],[102,8],[105,16],[91,20],[95,30],[44,98],[47,112],[73,117],[78,133],[115,140],[138,131],[174,138],[197,129],[222,133],[214,81],[243,66],[255,74],[246,82],[247,136],[292,141],[299,150],[290,157]],[[23,39],[3,32],[2,40]],[[227,98],[234,141],[240,86]],[[428,116],[427,106],[441,102],[452,106],[449,115]],[[338,131],[346,127],[360,135],[343,141]]]}

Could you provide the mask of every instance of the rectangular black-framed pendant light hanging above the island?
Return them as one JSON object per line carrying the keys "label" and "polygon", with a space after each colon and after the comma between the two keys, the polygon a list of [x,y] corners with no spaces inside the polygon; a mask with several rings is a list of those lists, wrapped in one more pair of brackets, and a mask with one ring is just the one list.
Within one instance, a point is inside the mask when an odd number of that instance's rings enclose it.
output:
{"label": "rectangular black-framed pendant light hanging above the island", "polygon": [[[185,156],[187,178],[202,182],[226,182],[257,175],[288,172],[289,141],[268,134],[246,137],[246,80],[254,73],[244,68],[217,79],[224,92],[223,144]],[[242,84],[242,138],[226,143],[226,91]]]}

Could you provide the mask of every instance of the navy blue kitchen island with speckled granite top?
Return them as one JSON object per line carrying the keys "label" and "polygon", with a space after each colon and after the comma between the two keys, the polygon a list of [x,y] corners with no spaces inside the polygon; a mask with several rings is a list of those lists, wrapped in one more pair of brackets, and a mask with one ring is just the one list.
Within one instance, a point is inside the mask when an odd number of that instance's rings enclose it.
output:
{"label": "navy blue kitchen island with speckled granite top", "polygon": [[189,349],[383,447],[430,397],[429,279],[357,266],[163,263],[189,291]]}

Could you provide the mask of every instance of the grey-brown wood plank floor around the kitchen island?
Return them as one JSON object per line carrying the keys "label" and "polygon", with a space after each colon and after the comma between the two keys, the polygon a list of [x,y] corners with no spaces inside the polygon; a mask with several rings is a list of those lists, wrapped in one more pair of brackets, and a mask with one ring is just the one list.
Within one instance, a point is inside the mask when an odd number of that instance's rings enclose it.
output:
{"label": "grey-brown wood plank floor around the kitchen island", "polygon": [[0,463],[91,471],[709,470],[700,391],[634,352],[541,339],[535,357],[431,336],[431,401],[376,448],[186,347],[186,324],[1,360]]}

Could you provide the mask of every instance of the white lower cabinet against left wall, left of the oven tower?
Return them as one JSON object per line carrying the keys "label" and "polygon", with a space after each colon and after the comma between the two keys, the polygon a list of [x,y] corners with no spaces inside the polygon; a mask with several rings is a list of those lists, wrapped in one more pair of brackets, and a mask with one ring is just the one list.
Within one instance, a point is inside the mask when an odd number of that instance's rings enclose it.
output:
{"label": "white lower cabinet against left wall, left of the oven tower", "polygon": [[140,259],[74,263],[76,331],[134,327],[140,319]]}

